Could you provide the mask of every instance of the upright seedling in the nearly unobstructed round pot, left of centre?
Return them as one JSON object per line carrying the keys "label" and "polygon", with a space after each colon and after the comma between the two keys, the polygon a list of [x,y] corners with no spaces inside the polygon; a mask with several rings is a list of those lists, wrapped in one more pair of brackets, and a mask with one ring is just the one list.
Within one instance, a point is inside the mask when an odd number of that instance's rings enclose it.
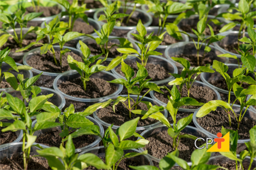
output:
{"label": "upright seedling in the nearly unobstructed round pot, left of centre", "polygon": [[83,54],[83,62],[78,62],[74,60],[72,56],[68,55],[68,64],[72,70],[76,70],[81,75],[81,80],[84,84],[84,91],[86,91],[86,84],[90,80],[89,77],[96,72],[105,70],[107,67],[100,64],[94,64],[89,68],[90,64],[94,63],[102,54],[89,58],[91,51],[88,46],[86,46],[82,41],[79,41],[79,44],[81,45],[80,50]]}

